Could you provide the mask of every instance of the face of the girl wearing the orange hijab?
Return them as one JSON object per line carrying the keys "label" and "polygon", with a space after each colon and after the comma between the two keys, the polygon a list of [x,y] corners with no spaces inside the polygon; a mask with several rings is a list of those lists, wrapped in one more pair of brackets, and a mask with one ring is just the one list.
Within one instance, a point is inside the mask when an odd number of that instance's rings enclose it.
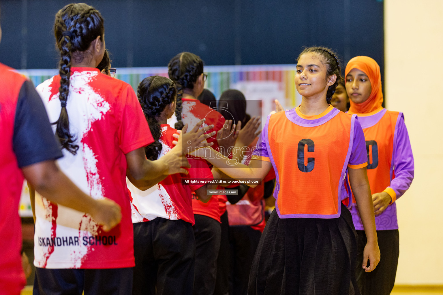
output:
{"label": "face of the girl wearing the orange hijab", "polygon": [[346,92],[353,103],[364,103],[371,95],[371,82],[359,69],[351,69],[346,75]]}

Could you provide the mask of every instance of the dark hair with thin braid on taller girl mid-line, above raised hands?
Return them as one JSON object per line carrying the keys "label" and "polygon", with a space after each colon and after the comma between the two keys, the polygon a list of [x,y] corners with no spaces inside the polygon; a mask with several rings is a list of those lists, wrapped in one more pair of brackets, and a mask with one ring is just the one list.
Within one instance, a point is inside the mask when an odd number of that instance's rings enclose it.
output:
{"label": "dark hair with thin braid on taller girl mid-line, above raised hands", "polygon": [[198,76],[203,73],[202,59],[190,52],[177,54],[169,61],[167,65],[169,78],[175,82],[177,88],[177,106],[175,107],[175,116],[177,123],[175,129],[182,129],[182,96],[183,88],[194,89],[194,83]]}

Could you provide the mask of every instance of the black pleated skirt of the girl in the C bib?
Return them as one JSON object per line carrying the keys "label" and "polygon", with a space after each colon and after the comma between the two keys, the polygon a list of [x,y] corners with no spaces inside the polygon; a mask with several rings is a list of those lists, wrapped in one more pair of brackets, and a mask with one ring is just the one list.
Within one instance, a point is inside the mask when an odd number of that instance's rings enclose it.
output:
{"label": "black pleated skirt of the girl in the C bib", "polygon": [[272,212],[257,247],[249,295],[360,295],[357,234],[349,210],[339,218],[279,218]]}

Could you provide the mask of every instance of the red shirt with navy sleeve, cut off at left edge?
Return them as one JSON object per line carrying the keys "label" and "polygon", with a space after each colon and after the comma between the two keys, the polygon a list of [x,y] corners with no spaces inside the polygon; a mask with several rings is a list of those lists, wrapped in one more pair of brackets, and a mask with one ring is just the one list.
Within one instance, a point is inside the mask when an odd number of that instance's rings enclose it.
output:
{"label": "red shirt with navy sleeve, cut off at left edge", "polygon": [[31,81],[0,63],[0,295],[19,295],[26,278],[18,214],[21,168],[63,157]]}

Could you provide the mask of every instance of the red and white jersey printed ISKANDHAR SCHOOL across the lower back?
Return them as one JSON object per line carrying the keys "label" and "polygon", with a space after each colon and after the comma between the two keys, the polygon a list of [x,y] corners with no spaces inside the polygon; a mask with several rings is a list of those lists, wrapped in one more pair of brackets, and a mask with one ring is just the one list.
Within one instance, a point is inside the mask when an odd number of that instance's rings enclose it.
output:
{"label": "red and white jersey printed ISKANDHAR SCHOOL across the lower back", "polygon": [[[37,87],[50,122],[58,120],[60,76]],[[127,268],[134,266],[126,157],[154,140],[132,87],[94,68],[71,68],[66,110],[76,155],[63,149],[60,169],[94,199],[121,207],[119,225],[104,232],[90,215],[35,200],[34,264],[39,268]],[[53,125],[55,132],[55,125]]]}

